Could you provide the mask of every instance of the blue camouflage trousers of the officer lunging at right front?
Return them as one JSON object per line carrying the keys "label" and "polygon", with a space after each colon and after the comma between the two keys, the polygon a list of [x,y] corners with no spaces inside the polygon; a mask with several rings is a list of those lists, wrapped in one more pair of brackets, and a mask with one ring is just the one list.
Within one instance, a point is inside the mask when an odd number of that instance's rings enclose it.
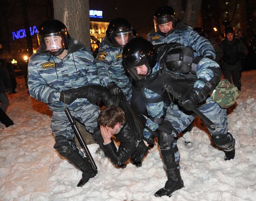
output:
{"label": "blue camouflage trousers of the officer lunging at right front", "polygon": [[[200,107],[197,107],[202,114],[204,114],[210,121],[212,121],[216,128],[215,130],[209,130],[211,135],[226,134],[228,132],[228,119],[226,109],[222,109],[214,100],[208,98],[206,103]],[[168,107],[166,111],[165,121],[169,121],[172,126],[177,130],[177,133],[182,132],[189,124],[195,119],[195,114],[191,112],[182,112],[178,105],[174,105],[173,108]],[[172,134],[176,137],[176,133]],[[177,145],[177,141],[174,142],[173,147]],[[179,152],[175,153],[175,162],[180,160]]]}

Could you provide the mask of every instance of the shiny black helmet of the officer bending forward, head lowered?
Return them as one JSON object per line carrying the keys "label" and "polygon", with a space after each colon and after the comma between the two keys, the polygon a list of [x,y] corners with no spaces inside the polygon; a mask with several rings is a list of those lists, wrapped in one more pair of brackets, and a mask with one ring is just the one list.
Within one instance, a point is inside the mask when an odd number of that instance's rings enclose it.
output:
{"label": "shiny black helmet of the officer bending forward, head lowered", "polygon": [[[134,80],[141,80],[150,74],[151,69],[157,62],[157,52],[155,46],[141,37],[130,40],[123,49],[124,68]],[[135,67],[145,64],[148,72],[145,75],[137,74]]]}

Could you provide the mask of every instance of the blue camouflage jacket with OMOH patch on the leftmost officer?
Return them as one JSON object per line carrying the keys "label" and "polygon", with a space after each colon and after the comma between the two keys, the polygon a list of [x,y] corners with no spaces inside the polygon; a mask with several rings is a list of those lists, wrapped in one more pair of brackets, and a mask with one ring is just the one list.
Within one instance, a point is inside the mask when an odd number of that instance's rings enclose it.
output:
{"label": "blue camouflage jacket with OMOH patch on the leftmost officer", "polygon": [[[29,94],[47,103],[54,111],[64,110],[64,103],[59,100],[62,90],[100,84],[94,57],[90,51],[72,39],[67,52],[67,56],[60,59],[48,52],[41,52],[38,48],[28,62]],[[85,98],[76,99],[68,107],[88,103]]]}

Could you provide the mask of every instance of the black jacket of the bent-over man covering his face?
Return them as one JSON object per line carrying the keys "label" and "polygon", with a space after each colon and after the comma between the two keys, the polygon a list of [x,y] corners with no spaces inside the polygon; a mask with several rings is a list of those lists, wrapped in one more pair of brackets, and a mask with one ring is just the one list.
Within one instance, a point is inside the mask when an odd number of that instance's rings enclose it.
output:
{"label": "black jacket of the bent-over man covering his face", "polygon": [[142,134],[146,123],[145,117],[134,113],[124,94],[111,95],[107,88],[98,85],[79,87],[72,90],[74,98],[87,98],[92,103],[102,100],[106,106],[118,106],[124,110],[126,124],[118,134],[115,134],[116,141],[120,142],[118,150],[112,139],[111,143],[107,145],[103,145],[103,139],[101,142],[97,141],[115,165],[123,164],[131,157],[143,139]]}

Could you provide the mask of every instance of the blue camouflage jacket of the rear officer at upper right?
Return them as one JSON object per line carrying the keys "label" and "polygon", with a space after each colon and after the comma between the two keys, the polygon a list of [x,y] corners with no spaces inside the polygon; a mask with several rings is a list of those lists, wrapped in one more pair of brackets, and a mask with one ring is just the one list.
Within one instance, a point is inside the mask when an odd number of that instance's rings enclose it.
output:
{"label": "blue camouflage jacket of the rear officer at upper right", "polygon": [[148,33],[148,40],[152,42],[153,45],[177,42],[184,47],[191,47],[202,57],[212,56],[214,59],[216,57],[214,48],[210,44],[209,40],[198,35],[192,27],[189,27],[182,22],[178,23],[174,31],[166,37],[161,33],[155,33],[155,29],[152,30]]}

